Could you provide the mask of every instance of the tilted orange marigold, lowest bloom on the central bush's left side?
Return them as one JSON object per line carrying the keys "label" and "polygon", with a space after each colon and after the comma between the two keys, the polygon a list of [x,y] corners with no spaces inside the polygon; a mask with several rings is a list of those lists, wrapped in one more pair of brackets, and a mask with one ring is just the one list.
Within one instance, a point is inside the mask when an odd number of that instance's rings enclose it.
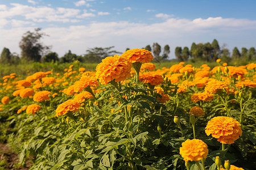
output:
{"label": "tilted orange marigold, lowest bloom on the central bush's left side", "polygon": [[59,117],[68,112],[77,112],[79,111],[80,103],[76,100],[67,100],[64,103],[61,103],[56,109],[56,117]]}

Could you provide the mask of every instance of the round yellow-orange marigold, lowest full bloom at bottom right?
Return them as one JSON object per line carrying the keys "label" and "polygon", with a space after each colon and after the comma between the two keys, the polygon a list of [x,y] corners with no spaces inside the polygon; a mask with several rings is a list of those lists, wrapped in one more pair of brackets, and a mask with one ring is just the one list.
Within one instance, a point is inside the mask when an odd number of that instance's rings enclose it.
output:
{"label": "round yellow-orange marigold, lowest full bloom at bottom right", "polygon": [[208,146],[200,139],[187,139],[180,147],[180,155],[184,158],[185,162],[199,161],[206,159],[208,154]]}

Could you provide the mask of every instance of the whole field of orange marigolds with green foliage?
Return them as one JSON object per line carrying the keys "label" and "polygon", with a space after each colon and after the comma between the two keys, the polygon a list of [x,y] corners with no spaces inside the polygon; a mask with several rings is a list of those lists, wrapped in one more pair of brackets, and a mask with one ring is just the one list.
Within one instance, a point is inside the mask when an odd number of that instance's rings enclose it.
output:
{"label": "whole field of orange marigolds with green foliage", "polygon": [[153,59],[131,49],[96,71],[3,76],[0,139],[30,169],[255,169],[256,64]]}

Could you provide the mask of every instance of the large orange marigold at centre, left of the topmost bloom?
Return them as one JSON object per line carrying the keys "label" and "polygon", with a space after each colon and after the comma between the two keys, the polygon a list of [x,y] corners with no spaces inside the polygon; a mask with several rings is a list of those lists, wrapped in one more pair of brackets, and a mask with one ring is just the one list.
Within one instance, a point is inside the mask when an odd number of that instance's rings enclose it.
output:
{"label": "large orange marigold at centre, left of the topmost bloom", "polygon": [[96,78],[102,84],[110,81],[121,82],[130,77],[131,63],[122,56],[106,57],[96,67]]}

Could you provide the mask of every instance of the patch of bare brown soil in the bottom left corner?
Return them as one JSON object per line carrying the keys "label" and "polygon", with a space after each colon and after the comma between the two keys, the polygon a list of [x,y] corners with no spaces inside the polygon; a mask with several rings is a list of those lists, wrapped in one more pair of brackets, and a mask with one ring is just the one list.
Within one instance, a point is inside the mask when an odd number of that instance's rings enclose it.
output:
{"label": "patch of bare brown soil in the bottom left corner", "polygon": [[29,160],[26,167],[22,167],[18,163],[18,155],[11,151],[6,143],[0,143],[0,169],[27,170],[31,165]]}

